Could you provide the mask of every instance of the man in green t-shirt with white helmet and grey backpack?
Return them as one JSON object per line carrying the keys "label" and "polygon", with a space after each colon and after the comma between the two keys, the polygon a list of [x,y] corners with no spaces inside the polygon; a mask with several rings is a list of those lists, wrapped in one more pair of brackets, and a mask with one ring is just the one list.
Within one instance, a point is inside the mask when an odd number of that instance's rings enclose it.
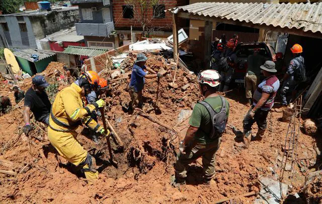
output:
{"label": "man in green t-shirt with white helmet and grey backpack", "polygon": [[[205,70],[198,75],[199,88],[205,98],[203,101],[208,103],[216,113],[223,110],[223,101],[225,102],[226,114],[222,113],[226,118],[223,121],[225,125],[229,115],[229,103],[216,93],[220,80],[220,75],[215,70]],[[210,184],[215,174],[215,154],[220,146],[221,134],[215,134],[216,136],[211,138],[213,127],[210,114],[208,109],[200,103],[197,103],[193,108],[189,124],[190,127],[187,130],[186,136],[180,142],[180,152],[177,155],[177,162],[175,164],[173,184],[185,183],[187,177],[186,166],[199,157],[202,157],[205,183]]]}

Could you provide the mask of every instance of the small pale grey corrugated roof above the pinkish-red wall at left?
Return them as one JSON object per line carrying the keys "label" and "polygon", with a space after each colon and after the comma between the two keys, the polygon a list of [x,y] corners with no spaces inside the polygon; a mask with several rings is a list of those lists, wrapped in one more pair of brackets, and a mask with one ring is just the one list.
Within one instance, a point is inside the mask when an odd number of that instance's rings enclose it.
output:
{"label": "small pale grey corrugated roof above the pinkish-red wall at left", "polygon": [[56,42],[72,42],[76,43],[79,41],[84,40],[84,36],[77,36],[76,28],[72,27],[71,29],[67,29],[64,31],[58,31],[51,35],[48,35],[45,39],[49,41],[56,41]]}

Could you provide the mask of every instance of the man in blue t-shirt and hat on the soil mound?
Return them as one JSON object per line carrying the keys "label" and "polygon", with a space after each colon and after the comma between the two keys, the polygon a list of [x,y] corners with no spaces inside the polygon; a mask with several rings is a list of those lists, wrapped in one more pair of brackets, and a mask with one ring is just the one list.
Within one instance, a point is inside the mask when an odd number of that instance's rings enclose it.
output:
{"label": "man in blue t-shirt and hat on the soil mound", "polygon": [[162,77],[162,73],[146,74],[146,72],[144,72],[144,69],[153,71],[145,67],[146,60],[147,57],[143,53],[137,54],[135,64],[132,68],[131,81],[129,84],[131,95],[131,102],[129,104],[130,112],[136,107],[142,107],[142,90],[144,88],[145,79]]}

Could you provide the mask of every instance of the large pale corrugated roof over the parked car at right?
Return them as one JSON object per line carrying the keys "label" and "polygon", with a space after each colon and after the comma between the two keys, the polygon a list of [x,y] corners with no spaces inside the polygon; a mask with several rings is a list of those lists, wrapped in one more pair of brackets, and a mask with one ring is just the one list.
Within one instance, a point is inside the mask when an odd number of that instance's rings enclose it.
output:
{"label": "large pale corrugated roof over the parked car at right", "polygon": [[[204,17],[322,33],[322,3],[196,3],[179,11]],[[169,11],[175,11],[176,8]]]}

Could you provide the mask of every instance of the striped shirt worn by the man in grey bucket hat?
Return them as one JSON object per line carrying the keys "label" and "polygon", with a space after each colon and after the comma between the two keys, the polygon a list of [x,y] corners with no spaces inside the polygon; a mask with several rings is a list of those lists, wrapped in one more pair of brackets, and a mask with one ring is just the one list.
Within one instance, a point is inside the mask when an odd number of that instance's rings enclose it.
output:
{"label": "striped shirt worn by the man in grey bucket hat", "polygon": [[277,79],[275,75],[264,79],[264,81],[258,85],[254,93],[253,105],[256,106],[258,101],[262,98],[262,93],[267,93],[270,96],[268,97],[264,105],[261,107],[261,110],[271,110],[271,108],[274,105],[274,99],[279,87],[280,81]]}

